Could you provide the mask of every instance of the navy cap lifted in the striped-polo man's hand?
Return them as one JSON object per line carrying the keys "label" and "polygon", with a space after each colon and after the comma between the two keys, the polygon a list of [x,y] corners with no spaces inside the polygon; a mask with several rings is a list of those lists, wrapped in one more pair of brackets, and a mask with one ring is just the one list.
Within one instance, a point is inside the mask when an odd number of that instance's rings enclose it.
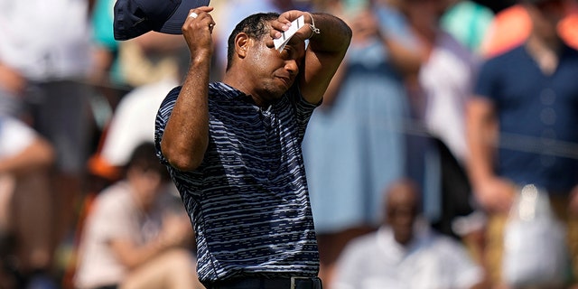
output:
{"label": "navy cap lifted in the striped-polo man's hand", "polygon": [[117,0],[114,9],[116,40],[129,40],[150,31],[181,34],[192,8],[210,0]]}

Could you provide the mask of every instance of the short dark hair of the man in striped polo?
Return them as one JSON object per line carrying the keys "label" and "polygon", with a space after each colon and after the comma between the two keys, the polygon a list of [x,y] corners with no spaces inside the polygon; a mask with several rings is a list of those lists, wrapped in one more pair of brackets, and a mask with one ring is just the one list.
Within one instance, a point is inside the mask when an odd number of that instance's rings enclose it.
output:
{"label": "short dark hair of the man in striped polo", "polygon": [[235,37],[238,33],[247,33],[253,39],[261,40],[268,35],[270,26],[269,22],[279,18],[279,14],[275,12],[257,13],[248,16],[235,26],[233,32],[228,36],[227,49],[227,70],[231,66],[233,54],[235,53]]}

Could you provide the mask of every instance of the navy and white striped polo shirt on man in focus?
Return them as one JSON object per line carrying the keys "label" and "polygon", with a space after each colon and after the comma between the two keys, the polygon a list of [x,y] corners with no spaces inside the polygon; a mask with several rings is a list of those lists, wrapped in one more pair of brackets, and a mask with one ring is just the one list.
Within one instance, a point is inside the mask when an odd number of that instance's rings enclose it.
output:
{"label": "navy and white striped polo shirt on man in focus", "polygon": [[197,234],[200,281],[317,275],[319,255],[301,151],[316,106],[294,91],[262,109],[239,90],[211,83],[209,147],[197,170],[182,172],[160,151],[180,90],[172,89],[164,99],[154,139]]}

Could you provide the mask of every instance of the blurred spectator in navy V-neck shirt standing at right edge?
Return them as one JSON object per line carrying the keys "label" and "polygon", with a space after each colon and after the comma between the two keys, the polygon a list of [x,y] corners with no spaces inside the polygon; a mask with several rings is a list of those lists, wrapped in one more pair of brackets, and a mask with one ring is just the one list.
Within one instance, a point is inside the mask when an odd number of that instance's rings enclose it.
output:
{"label": "blurred spectator in navy V-neck shirt standing at right edge", "polygon": [[526,42],[486,61],[468,105],[468,171],[481,207],[489,213],[489,275],[501,274],[503,232],[517,191],[546,191],[567,224],[578,276],[578,51],[556,33],[564,0],[525,0],[533,21]]}

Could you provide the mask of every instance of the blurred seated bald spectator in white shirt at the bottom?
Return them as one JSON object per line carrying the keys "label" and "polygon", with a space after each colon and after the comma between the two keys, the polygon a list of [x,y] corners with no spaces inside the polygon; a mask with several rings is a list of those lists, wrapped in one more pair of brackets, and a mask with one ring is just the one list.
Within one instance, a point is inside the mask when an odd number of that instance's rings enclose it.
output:
{"label": "blurred seated bald spectator in white shirt at the bottom", "polygon": [[350,241],[332,289],[482,288],[482,268],[461,243],[433,232],[420,218],[414,182],[396,182],[385,193],[384,224]]}

